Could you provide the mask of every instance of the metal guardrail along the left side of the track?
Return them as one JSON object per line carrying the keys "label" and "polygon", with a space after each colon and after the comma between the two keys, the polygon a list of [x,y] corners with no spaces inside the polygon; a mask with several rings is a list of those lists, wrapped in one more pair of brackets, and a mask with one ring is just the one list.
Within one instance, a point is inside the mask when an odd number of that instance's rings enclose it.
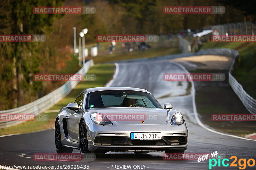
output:
{"label": "metal guardrail along the left side of the track", "polygon": [[[76,74],[82,74],[84,76],[89,70],[89,68],[92,66],[93,66],[93,60],[88,60]],[[37,116],[40,113],[43,113],[45,110],[54,106],[63,97],[67,96],[78,83],[79,81],[67,81],[58,89],[52,91],[48,95],[45,95],[35,100],[34,102],[28,103],[26,105],[20,106],[15,109],[1,110],[0,116],[2,113],[8,113],[13,115],[18,113],[33,113]],[[10,127],[12,125],[20,124],[22,122],[24,121],[0,121],[0,129]]]}

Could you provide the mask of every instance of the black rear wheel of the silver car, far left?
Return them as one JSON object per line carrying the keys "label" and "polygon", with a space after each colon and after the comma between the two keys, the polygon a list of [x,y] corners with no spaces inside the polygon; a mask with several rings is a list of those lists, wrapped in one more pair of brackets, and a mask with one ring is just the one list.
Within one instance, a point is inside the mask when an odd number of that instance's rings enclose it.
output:
{"label": "black rear wheel of the silver car, far left", "polygon": [[60,120],[58,120],[55,124],[54,129],[54,141],[55,141],[55,149],[57,153],[72,153],[73,148],[63,147],[61,144],[61,131],[60,131]]}

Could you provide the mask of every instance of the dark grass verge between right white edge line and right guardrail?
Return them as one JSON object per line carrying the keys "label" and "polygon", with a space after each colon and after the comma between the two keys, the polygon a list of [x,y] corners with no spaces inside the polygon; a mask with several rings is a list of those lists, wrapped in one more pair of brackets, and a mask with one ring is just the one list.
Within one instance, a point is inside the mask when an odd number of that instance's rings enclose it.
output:
{"label": "dark grass verge between right white edge line and right guardrail", "polygon": [[256,132],[254,122],[211,120],[212,114],[250,114],[230,87],[207,87],[196,91],[196,108],[203,122],[214,129],[242,137]]}

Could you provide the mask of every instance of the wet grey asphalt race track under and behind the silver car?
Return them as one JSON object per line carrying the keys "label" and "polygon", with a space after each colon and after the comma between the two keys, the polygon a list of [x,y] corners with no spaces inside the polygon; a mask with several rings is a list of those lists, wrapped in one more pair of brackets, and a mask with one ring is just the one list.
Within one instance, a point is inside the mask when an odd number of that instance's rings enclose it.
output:
{"label": "wet grey asphalt race track under and behind the silver car", "polygon": [[[205,130],[198,125],[193,106],[193,85],[190,81],[164,81],[164,73],[184,73],[183,68],[168,60],[119,63],[119,72],[111,86],[137,87],[147,89],[163,105],[172,103],[173,109],[180,110],[188,127],[188,149],[185,153],[218,152],[221,159],[235,155],[238,159],[255,159],[256,142],[223,136]],[[144,165],[144,169],[209,169],[209,161],[164,160],[164,152],[149,152],[135,155],[133,152],[108,152],[94,161],[35,161],[34,153],[55,153],[54,130],[6,136],[0,138],[0,165],[89,165],[89,169],[113,169],[113,165]],[[78,153],[74,150],[73,153]],[[217,159],[217,157],[216,157]],[[233,159],[234,160],[234,159]],[[230,164],[233,160],[230,160]],[[227,163],[227,162],[226,162]],[[252,162],[251,162],[252,164]],[[111,166],[112,165],[112,166]],[[134,167],[135,167],[134,166]],[[112,168],[111,168],[112,167]],[[246,169],[255,169],[246,165]],[[140,168],[140,169],[142,169]]]}

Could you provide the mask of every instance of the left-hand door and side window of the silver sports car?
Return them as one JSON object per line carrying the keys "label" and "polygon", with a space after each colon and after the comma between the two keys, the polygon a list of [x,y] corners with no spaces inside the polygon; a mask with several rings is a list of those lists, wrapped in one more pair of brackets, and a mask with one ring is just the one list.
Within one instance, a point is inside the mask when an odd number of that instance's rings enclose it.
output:
{"label": "left-hand door and side window of the silver sports car", "polygon": [[66,115],[66,119],[68,124],[69,139],[71,141],[78,142],[79,120],[84,111],[84,92],[77,96],[75,103],[77,103],[79,111],[76,113],[74,110],[70,110],[70,112]]}

